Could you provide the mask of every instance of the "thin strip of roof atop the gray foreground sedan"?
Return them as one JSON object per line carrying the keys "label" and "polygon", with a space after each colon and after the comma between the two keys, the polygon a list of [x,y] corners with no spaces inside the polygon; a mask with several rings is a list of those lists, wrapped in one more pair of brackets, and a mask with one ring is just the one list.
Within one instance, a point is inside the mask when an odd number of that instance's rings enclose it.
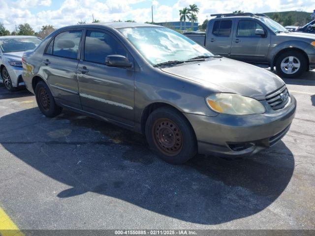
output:
{"label": "thin strip of roof atop the gray foreground sedan", "polygon": [[136,23],[136,22],[107,22],[107,23],[91,23],[91,24],[81,24],[66,26],[61,29],[71,29],[71,28],[82,28],[82,27],[95,27],[100,26],[104,28],[122,29],[122,28],[135,28],[135,27],[160,27],[158,25],[146,24],[146,23]]}

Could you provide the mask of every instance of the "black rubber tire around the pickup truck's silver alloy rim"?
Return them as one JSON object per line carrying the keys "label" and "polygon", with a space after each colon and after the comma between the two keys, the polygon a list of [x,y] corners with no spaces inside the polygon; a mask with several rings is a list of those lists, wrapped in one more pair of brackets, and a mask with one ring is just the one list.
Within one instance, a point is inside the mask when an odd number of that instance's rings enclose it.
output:
{"label": "black rubber tire around the pickup truck's silver alloy rim", "polygon": [[[296,69],[295,72],[292,74],[284,73],[282,66],[281,66],[282,61],[288,57],[294,57],[294,58],[298,59],[300,62],[300,68]],[[294,61],[296,59],[294,59]],[[297,61],[295,61],[295,62],[297,62]],[[283,54],[281,54],[278,57],[278,59],[276,61],[277,73],[282,78],[297,78],[297,77],[301,76],[305,71],[307,71],[307,65],[308,65],[307,59],[305,58],[305,56],[301,52],[298,52],[298,51],[284,52]],[[294,67],[292,70],[294,70]]]}

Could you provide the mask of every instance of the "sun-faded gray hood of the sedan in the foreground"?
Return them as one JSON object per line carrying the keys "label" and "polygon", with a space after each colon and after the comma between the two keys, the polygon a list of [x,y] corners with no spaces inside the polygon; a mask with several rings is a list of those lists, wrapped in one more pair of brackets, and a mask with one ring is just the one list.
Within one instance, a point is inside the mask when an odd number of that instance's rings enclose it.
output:
{"label": "sun-faded gray hood of the sedan in the foreground", "polygon": [[272,72],[227,58],[181,64],[161,70],[219,92],[238,93],[257,100],[264,100],[266,94],[284,85],[283,80]]}

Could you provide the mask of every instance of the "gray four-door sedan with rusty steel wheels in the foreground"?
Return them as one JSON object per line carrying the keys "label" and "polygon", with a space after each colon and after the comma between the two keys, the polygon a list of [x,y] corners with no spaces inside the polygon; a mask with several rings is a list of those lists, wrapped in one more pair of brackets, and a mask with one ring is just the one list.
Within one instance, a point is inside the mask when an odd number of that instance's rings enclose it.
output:
{"label": "gray four-door sedan with rusty steel wheels in the foreground", "polygon": [[170,163],[271,147],[296,109],[277,75],[159,26],[65,27],[23,58],[26,87],[45,116],[67,108],[142,132]]}

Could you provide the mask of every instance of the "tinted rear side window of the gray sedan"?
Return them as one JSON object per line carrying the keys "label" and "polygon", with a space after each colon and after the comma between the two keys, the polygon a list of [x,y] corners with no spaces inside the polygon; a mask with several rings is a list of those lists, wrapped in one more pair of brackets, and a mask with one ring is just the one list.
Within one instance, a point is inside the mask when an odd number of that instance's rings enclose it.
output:
{"label": "tinted rear side window of the gray sedan", "polygon": [[[82,30],[65,31],[58,34],[55,39],[48,45],[46,54],[77,59]],[[51,45],[52,44],[52,45]]]}

